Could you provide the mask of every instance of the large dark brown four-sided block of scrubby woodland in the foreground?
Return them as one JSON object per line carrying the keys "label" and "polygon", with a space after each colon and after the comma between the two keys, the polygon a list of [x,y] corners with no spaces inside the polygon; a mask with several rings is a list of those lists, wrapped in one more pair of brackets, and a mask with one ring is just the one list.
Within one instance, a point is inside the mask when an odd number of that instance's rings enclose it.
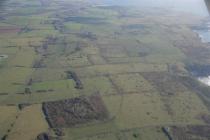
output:
{"label": "large dark brown four-sided block of scrubby woodland in the foreground", "polygon": [[43,103],[43,112],[51,128],[71,127],[108,118],[99,95],[46,102]]}

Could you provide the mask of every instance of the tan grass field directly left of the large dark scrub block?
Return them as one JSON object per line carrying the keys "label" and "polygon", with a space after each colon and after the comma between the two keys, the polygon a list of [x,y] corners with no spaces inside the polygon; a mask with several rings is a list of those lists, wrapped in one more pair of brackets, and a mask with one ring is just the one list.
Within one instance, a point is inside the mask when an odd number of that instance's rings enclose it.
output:
{"label": "tan grass field directly left of the large dark scrub block", "polygon": [[48,124],[44,119],[41,105],[31,105],[18,114],[11,132],[8,134],[10,140],[34,140],[34,138],[47,131]]}

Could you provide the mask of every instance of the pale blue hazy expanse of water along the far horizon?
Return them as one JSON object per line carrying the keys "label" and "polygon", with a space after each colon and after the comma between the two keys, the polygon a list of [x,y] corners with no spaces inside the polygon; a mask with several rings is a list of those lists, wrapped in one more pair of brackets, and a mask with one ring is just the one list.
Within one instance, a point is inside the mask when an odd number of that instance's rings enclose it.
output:
{"label": "pale blue hazy expanse of water along the far horizon", "polygon": [[102,0],[106,5],[167,8],[198,16],[209,16],[205,1],[209,0]]}

